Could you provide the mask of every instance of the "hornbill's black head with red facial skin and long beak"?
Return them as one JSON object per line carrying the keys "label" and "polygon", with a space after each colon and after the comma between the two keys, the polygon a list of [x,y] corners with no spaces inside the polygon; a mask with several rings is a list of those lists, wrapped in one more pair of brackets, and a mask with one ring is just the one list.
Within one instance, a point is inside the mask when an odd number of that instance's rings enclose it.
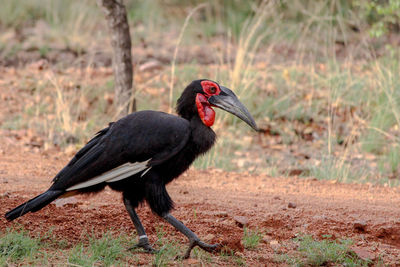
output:
{"label": "hornbill's black head with red facial skin and long beak", "polygon": [[201,121],[210,127],[215,120],[213,107],[232,113],[254,130],[258,130],[250,112],[232,90],[210,80],[195,80],[189,84],[178,99],[177,112],[187,119],[198,115]]}

